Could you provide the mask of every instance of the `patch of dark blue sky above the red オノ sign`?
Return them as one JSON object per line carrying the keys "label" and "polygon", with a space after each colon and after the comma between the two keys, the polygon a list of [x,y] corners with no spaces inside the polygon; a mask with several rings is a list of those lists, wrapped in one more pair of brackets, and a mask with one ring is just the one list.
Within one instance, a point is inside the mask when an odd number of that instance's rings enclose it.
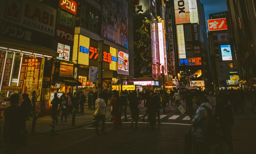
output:
{"label": "patch of dark blue sky above the red \u30aa\u30ce sign", "polygon": [[204,7],[206,28],[208,33],[207,19],[209,19],[209,14],[216,12],[227,11],[226,0],[200,0]]}

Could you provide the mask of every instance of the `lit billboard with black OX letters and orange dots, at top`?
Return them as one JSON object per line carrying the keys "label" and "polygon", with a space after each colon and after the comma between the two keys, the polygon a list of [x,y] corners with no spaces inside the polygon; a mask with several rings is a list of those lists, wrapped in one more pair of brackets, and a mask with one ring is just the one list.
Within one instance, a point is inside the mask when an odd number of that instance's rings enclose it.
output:
{"label": "lit billboard with black OX letters and orange dots, at top", "polygon": [[190,23],[189,0],[174,0],[175,23]]}

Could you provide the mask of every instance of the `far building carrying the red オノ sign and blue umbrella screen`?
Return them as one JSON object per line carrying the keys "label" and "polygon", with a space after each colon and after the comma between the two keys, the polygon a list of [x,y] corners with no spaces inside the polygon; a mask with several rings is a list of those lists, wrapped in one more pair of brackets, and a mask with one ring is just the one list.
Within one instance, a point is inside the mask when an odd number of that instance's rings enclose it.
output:
{"label": "far building carrying the red \u30aa\u30ce sign and blue umbrella screen", "polygon": [[232,56],[232,54],[235,55],[235,51],[232,48],[234,46],[232,38],[230,38],[232,35],[229,35],[231,28],[226,20],[227,15],[227,11],[213,13],[209,14],[208,19],[209,50],[215,89],[239,88],[240,78],[234,64],[236,57]]}

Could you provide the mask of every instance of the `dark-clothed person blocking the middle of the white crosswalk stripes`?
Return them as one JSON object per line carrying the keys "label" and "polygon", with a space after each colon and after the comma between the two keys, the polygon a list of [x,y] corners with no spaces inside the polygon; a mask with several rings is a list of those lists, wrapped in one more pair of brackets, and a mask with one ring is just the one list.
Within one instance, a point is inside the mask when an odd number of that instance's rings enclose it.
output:
{"label": "dark-clothed person blocking the middle of the white crosswalk stripes", "polygon": [[156,111],[159,107],[157,103],[158,101],[159,99],[156,96],[154,96],[154,91],[150,90],[150,96],[147,98],[146,107],[148,109],[148,118],[149,118],[151,130],[155,130]]}

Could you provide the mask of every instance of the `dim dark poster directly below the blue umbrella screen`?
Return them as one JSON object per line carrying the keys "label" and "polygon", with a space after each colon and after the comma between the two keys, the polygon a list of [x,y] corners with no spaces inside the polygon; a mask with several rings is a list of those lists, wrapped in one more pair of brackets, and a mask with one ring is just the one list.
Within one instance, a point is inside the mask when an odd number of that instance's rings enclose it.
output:
{"label": "dim dark poster directly below the blue umbrella screen", "polygon": [[216,65],[217,65],[219,80],[230,79],[228,63],[225,61],[222,61],[222,62],[216,62]]}

